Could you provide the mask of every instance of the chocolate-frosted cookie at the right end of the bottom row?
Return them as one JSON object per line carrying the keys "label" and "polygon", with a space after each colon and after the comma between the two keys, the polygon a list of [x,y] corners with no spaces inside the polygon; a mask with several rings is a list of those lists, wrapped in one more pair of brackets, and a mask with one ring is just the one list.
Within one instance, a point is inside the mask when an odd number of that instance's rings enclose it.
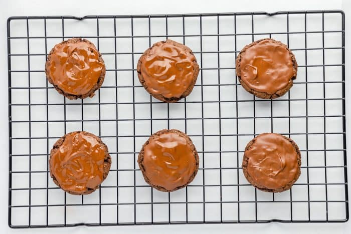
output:
{"label": "chocolate-frosted cookie at the right end of the bottom row", "polygon": [[246,179],[256,188],[282,192],[300,176],[301,154],[290,138],[263,133],[247,144],[242,166]]}

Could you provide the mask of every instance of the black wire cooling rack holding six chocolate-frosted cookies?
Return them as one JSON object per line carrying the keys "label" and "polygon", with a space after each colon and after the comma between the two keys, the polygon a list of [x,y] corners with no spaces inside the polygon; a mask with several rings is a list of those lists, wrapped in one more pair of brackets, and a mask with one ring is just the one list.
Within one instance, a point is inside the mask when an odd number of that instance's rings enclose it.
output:
{"label": "black wire cooling rack holding six chocolate-frosted cookies", "polygon": [[[72,37],[92,41],[105,61],[93,98],[65,99],[46,80],[48,52]],[[274,100],[255,98],[235,76],[240,50],[261,38],[287,44],[299,65],[294,86]],[[140,55],[165,39],[192,48],[201,68],[193,92],[171,104],[152,98],[136,74]],[[348,220],[342,11],[11,17],[8,63],[10,227]],[[163,128],[186,132],[200,157],[195,180],[171,193],[146,184],[136,163]],[[100,136],[112,156],[90,195],[70,195],[49,176],[52,145],[77,130]],[[243,175],[245,146],[263,132],[301,150],[301,176],[288,191],[262,192]]]}

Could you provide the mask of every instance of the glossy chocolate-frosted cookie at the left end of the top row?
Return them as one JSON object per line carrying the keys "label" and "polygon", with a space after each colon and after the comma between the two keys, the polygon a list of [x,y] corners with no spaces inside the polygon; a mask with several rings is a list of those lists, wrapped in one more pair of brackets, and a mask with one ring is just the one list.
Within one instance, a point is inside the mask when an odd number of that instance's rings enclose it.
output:
{"label": "glossy chocolate-frosted cookie at the left end of the top row", "polygon": [[105,64],[94,44],[72,38],[57,44],[45,65],[50,84],[69,99],[93,97],[105,78]]}

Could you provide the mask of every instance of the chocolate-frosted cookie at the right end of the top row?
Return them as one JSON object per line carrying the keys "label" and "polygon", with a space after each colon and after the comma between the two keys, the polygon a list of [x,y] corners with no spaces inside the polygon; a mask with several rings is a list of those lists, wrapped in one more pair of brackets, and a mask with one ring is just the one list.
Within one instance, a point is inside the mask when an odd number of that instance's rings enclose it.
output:
{"label": "chocolate-frosted cookie at the right end of the top row", "polygon": [[236,59],[236,75],[243,88],[256,97],[284,95],[296,79],[297,62],[286,45],[261,39],[244,47]]}

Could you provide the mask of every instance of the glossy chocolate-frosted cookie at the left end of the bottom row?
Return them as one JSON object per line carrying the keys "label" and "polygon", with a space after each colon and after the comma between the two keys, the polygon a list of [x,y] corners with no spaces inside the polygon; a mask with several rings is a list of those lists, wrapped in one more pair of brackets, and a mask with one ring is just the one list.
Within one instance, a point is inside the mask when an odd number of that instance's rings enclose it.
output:
{"label": "glossy chocolate-frosted cookie at the left end of the bottom row", "polygon": [[89,194],[107,177],[111,156],[101,139],[89,132],[61,137],[50,152],[50,176],[68,193]]}

